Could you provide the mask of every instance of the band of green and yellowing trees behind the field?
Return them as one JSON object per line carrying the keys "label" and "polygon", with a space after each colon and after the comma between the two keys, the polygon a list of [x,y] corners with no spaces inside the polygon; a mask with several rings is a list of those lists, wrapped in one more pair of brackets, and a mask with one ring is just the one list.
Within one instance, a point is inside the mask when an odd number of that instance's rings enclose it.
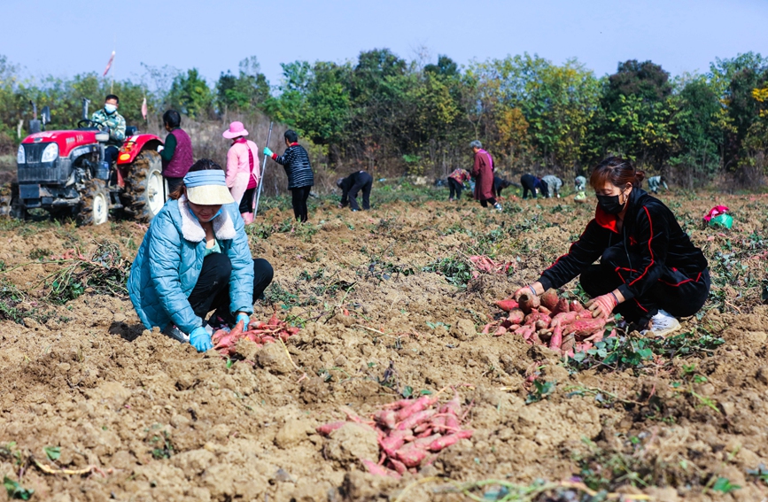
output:
{"label": "band of green and yellowing trees behind the field", "polygon": [[652,61],[624,61],[598,77],[577,59],[555,65],[525,53],[459,66],[387,49],[282,66],[274,86],[255,57],[211,83],[195,68],[169,66],[144,66],[140,81],[96,73],[23,80],[0,56],[0,151],[19,142],[30,102],[49,104],[53,125],[71,127],[82,97],[98,106],[112,90],[134,124],[143,122],[145,97],[154,124],[168,107],[198,121],[264,113],[314,143],[331,169],[445,176],[468,166],[468,143],[479,139],[508,174],[570,177],[609,154],[691,188],[750,185],[768,174],[768,59],[754,52],[677,76]]}

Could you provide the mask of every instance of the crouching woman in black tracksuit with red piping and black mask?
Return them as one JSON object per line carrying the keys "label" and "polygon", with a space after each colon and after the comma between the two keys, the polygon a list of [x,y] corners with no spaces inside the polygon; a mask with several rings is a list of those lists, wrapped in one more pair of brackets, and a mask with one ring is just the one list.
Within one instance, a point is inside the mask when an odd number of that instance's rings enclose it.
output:
{"label": "crouching woman in black tracksuit with red piping and black mask", "polygon": [[623,158],[603,160],[589,180],[598,200],[594,219],[568,254],[516,297],[540,295],[580,274],[593,317],[616,311],[634,328],[663,336],[679,328],[676,318],[698,312],[710,292],[707,259],[670,209],[639,188],[643,177]]}

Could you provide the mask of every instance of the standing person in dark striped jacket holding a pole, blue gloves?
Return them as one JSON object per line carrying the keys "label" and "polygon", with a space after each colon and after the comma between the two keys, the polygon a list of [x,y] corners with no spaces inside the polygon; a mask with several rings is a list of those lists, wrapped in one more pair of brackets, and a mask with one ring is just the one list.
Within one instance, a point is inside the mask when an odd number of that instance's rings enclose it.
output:
{"label": "standing person in dark striped jacket holding a pole, blue gloves", "polygon": [[288,189],[291,190],[293,215],[304,223],[307,219],[306,199],[309,198],[309,191],[314,185],[314,173],[309,164],[309,155],[299,144],[299,135],[288,129],[283,139],[286,146],[283,155],[278,157],[268,147],[264,148],[264,155],[268,155],[285,168],[285,174],[288,175]]}

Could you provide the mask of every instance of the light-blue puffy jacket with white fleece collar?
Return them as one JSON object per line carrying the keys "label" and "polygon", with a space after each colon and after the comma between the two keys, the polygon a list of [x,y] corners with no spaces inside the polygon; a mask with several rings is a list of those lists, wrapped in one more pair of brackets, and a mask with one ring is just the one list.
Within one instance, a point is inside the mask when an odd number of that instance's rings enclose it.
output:
{"label": "light-blue puffy jacket with white fleece collar", "polygon": [[[213,220],[213,233],[221,252],[232,262],[229,310],[253,312],[253,260],[237,205],[222,206]],[[206,231],[190,213],[186,197],[169,201],[151,221],[136,254],[128,293],[147,329],[166,328],[169,322],[184,333],[202,326],[190,296],[198,282],[206,250]]]}

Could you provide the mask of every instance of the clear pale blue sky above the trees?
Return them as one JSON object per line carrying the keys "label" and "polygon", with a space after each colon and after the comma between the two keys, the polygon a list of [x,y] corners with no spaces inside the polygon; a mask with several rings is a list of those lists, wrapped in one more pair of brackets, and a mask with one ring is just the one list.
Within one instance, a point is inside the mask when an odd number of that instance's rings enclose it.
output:
{"label": "clear pale blue sky above the trees", "polygon": [[627,59],[678,75],[749,50],[768,56],[768,0],[0,0],[0,19],[0,55],[29,76],[102,73],[115,50],[114,78],[136,82],[144,63],[197,67],[213,84],[256,56],[275,85],[280,63],[376,48],[460,65],[527,51],[578,58],[598,76]]}

